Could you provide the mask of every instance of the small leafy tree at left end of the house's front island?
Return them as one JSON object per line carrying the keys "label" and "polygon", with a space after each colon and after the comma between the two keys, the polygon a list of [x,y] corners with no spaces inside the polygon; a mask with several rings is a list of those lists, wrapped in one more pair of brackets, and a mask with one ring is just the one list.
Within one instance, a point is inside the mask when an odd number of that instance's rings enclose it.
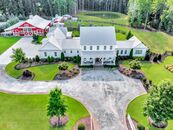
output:
{"label": "small leafy tree at left end of the house's front island", "polygon": [[25,53],[22,51],[21,48],[13,49],[13,54],[11,55],[11,58],[13,61],[21,63],[25,60]]}

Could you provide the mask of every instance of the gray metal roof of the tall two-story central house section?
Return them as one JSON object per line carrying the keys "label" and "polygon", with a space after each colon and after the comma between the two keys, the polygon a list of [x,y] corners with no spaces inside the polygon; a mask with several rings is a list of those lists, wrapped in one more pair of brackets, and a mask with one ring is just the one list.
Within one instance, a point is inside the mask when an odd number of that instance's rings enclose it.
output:
{"label": "gray metal roof of the tall two-story central house section", "polygon": [[116,35],[114,27],[81,27],[81,45],[115,45]]}

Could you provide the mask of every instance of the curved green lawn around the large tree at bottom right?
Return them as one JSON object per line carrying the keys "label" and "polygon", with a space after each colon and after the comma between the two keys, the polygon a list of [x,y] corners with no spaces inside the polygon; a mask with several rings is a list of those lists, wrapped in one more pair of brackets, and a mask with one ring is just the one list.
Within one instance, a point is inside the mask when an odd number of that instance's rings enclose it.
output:
{"label": "curved green lawn around the large tree at bottom right", "polygon": [[166,129],[156,129],[149,125],[147,121],[147,117],[143,115],[143,107],[144,103],[146,101],[147,95],[142,95],[137,98],[135,98],[128,106],[127,113],[130,114],[130,116],[145,126],[148,130],[173,130],[173,120],[168,122],[168,127]]}

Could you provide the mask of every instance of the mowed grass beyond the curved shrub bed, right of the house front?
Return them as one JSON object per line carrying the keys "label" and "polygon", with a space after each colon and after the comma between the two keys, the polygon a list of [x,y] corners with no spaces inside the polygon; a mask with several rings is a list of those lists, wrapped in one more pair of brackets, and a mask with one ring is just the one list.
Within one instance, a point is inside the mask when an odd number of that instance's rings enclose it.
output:
{"label": "mowed grass beyond the curved shrub bed, right of the house front", "polygon": [[[122,64],[129,67],[130,60],[123,61]],[[152,80],[153,83],[157,84],[161,80],[170,79],[173,81],[173,73],[168,71],[165,68],[165,65],[173,65],[173,56],[169,56],[165,59],[164,62],[158,63],[149,63],[149,62],[142,62],[141,70],[144,72],[146,77],[149,80]]]}

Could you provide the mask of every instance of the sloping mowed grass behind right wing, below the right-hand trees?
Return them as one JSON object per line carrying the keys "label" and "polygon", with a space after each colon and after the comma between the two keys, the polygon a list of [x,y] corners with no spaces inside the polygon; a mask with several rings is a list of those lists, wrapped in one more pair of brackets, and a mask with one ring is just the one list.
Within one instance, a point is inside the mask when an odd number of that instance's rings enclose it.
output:
{"label": "sloping mowed grass behind right wing, below the right-hand trees", "polygon": [[173,51],[173,36],[169,34],[137,29],[132,29],[132,32],[150,48],[151,52],[162,54],[165,51]]}

